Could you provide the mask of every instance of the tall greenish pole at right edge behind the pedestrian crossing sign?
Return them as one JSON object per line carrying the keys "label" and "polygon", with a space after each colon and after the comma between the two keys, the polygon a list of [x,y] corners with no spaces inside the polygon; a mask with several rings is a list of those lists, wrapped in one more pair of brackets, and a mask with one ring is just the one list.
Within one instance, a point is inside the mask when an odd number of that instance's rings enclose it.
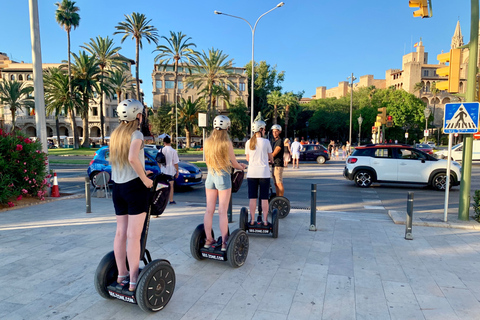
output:
{"label": "tall greenish pole at right edge behind the pedestrian crossing sign", "polygon": [[[477,60],[478,60],[478,0],[471,0],[470,43],[467,74],[467,102],[475,101]],[[458,219],[468,220],[470,209],[470,187],[472,179],[472,151],[473,137],[464,135],[462,180],[460,182],[460,199],[458,205]],[[449,186],[447,186],[449,187]]]}

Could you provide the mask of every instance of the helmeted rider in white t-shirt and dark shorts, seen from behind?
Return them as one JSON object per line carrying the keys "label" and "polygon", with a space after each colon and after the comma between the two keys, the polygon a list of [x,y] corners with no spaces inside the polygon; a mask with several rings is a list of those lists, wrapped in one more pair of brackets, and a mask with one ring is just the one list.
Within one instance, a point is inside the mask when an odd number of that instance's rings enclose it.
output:
{"label": "helmeted rider in white t-shirt and dark shorts, seen from behind", "polygon": [[[268,189],[270,187],[270,166],[273,163],[272,146],[264,138],[265,122],[255,121],[252,125],[252,138],[245,144],[245,155],[248,161],[248,199],[250,209],[250,225],[255,224],[255,207],[257,198],[262,206],[263,223],[268,225]],[[258,191],[260,189],[260,196]]]}

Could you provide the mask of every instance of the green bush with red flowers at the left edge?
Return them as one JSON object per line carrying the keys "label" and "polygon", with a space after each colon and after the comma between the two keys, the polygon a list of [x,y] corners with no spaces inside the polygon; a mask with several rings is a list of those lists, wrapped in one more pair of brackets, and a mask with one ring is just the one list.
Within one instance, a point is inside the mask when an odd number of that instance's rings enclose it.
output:
{"label": "green bush with red flowers at the left edge", "polygon": [[40,142],[20,131],[0,129],[0,204],[13,207],[12,200],[28,195],[44,199],[50,174],[45,171],[47,155],[41,150]]}

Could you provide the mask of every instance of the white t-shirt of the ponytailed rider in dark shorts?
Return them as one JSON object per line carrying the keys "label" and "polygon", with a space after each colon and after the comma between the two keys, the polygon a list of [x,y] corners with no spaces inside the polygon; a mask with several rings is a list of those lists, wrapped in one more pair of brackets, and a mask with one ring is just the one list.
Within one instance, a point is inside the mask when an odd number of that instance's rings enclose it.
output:
{"label": "white t-shirt of the ponytailed rider in dark shorts", "polygon": [[250,150],[250,140],[247,141],[245,144],[245,154],[249,157],[247,178],[270,178],[269,153],[272,153],[272,146],[267,139],[257,138],[255,150]]}

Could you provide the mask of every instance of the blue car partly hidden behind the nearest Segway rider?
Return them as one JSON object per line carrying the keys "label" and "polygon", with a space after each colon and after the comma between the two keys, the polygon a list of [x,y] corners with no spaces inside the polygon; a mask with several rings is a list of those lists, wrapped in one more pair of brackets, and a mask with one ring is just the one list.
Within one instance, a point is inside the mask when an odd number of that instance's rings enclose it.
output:
{"label": "blue car partly hidden behind the nearest Segway rider", "polygon": [[[150,170],[154,174],[160,173],[160,166],[155,161],[158,149],[144,148],[145,151],[145,170]],[[109,162],[109,148],[102,147],[95,152],[93,160],[87,169],[88,177],[94,187],[99,187],[96,182],[96,175],[99,172],[106,171],[112,175],[112,166]],[[178,177],[175,179],[175,186],[185,187],[194,186],[202,183],[202,171],[196,165],[180,161],[178,163]]]}

